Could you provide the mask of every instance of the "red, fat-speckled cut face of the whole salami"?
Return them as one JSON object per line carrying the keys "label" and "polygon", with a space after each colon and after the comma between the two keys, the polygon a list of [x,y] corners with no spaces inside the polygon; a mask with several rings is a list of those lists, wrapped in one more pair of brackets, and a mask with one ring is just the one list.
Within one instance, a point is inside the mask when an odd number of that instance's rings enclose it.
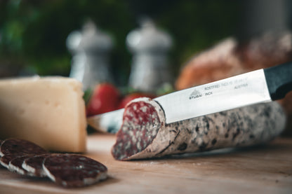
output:
{"label": "red, fat-speckled cut face of the whole salami", "polygon": [[112,155],[117,160],[128,160],[150,145],[164,125],[164,112],[153,100],[142,97],[127,104],[121,129],[117,132],[117,141]]}

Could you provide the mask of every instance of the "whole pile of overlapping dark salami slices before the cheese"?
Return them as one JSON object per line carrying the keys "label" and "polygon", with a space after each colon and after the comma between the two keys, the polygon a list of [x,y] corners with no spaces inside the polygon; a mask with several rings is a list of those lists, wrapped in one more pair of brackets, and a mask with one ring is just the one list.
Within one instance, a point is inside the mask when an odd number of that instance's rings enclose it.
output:
{"label": "whole pile of overlapping dark salami slices before the cheese", "polygon": [[81,187],[106,179],[107,167],[77,154],[51,154],[23,139],[6,139],[0,147],[0,163],[18,174],[48,176],[64,187]]}

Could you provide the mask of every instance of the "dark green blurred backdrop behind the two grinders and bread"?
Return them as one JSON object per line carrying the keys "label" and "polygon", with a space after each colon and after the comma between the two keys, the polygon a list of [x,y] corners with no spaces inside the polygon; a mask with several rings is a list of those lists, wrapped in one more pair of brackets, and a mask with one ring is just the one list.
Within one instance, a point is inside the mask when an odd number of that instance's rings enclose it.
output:
{"label": "dark green blurred backdrop behind the two grinders and bread", "polygon": [[291,26],[283,19],[291,13],[282,14],[289,5],[284,0],[4,0],[0,1],[0,77],[68,76],[72,55],[65,46],[67,36],[91,19],[114,37],[112,74],[125,85],[131,67],[126,35],[139,27],[142,16],[171,34],[174,45],[169,59],[177,76],[190,57],[222,39],[247,39],[263,29]]}

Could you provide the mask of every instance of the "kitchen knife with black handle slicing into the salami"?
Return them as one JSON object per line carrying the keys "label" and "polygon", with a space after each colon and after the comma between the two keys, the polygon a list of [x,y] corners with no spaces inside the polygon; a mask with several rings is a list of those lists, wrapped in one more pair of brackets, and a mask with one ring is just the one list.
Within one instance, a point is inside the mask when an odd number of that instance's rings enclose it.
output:
{"label": "kitchen knife with black handle slicing into the salami", "polygon": [[[284,98],[292,90],[292,62],[259,69],[157,97],[166,123],[227,111],[260,102]],[[115,133],[124,109],[88,118],[95,129]]]}

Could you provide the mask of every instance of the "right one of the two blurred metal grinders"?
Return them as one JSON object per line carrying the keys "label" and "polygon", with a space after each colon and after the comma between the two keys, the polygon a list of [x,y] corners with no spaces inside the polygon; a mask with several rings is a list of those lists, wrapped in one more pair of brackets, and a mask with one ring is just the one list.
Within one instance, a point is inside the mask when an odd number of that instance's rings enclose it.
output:
{"label": "right one of the two blurred metal grinders", "polygon": [[126,37],[128,49],[133,53],[129,85],[142,92],[156,92],[164,83],[171,82],[168,50],[172,46],[169,34],[142,20],[140,29]]}

